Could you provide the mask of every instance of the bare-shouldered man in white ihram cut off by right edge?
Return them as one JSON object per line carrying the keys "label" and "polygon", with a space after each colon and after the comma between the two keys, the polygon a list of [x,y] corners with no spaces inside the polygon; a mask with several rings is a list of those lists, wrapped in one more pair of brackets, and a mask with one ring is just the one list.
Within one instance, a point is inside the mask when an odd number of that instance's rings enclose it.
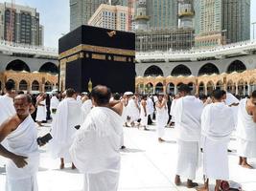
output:
{"label": "bare-shouldered man in white ihram cut off by right edge", "polygon": [[240,101],[237,137],[239,164],[251,169],[253,167],[247,163],[247,159],[256,158],[256,91],[250,98]]}

